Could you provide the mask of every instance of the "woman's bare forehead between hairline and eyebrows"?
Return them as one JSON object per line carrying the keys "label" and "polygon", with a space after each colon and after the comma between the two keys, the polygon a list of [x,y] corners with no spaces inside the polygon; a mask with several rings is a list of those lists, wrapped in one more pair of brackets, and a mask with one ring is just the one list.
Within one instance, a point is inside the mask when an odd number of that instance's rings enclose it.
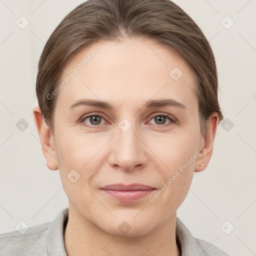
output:
{"label": "woman's bare forehead between hairline and eyebrows", "polygon": [[64,67],[61,82],[58,101],[69,105],[81,97],[119,106],[163,96],[184,104],[196,100],[190,67],[175,50],[151,39],[106,40],[84,47]]}

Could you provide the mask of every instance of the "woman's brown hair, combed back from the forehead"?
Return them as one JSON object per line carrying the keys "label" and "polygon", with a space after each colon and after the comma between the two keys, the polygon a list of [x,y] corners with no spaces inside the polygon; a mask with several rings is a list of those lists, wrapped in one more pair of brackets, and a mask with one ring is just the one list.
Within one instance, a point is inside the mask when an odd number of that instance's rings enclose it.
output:
{"label": "woman's brown hair, combed back from the forehead", "polygon": [[47,40],[38,63],[36,96],[43,118],[52,132],[56,96],[68,59],[81,47],[100,40],[120,40],[123,35],[144,37],[170,46],[194,71],[200,131],[212,112],[223,119],[218,103],[215,58],[198,25],[170,0],[87,0],[69,12]]}

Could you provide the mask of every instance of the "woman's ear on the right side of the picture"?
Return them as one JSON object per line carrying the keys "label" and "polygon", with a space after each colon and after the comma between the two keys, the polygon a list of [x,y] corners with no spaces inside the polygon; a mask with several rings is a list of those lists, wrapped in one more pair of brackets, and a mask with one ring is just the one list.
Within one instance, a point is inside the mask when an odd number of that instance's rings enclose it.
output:
{"label": "woman's ear on the right side of the picture", "polygon": [[[210,161],[213,151],[213,142],[216,134],[217,123],[218,114],[217,112],[213,112],[211,113],[210,118],[207,121],[206,135],[203,139],[204,145],[200,151],[201,154],[196,159],[194,168],[195,172],[204,170]],[[203,166],[200,166],[200,164],[203,164]]]}

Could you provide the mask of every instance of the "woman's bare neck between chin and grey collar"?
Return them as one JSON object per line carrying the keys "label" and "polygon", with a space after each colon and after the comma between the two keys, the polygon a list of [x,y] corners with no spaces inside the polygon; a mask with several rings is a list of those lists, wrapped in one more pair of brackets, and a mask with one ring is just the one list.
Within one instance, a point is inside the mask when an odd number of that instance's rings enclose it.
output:
{"label": "woman's bare neck between chin and grey collar", "polygon": [[106,233],[69,204],[64,229],[67,256],[180,256],[175,239],[176,212],[161,226],[141,236]]}

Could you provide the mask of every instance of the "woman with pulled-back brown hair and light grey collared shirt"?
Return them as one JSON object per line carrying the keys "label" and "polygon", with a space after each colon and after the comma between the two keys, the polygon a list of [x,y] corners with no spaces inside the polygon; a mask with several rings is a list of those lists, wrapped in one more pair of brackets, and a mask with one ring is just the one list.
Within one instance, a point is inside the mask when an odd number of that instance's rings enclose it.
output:
{"label": "woman with pulled-back brown hair and light grey collared shirt", "polygon": [[1,253],[227,255],[176,217],[212,154],[217,89],[207,39],[173,2],[77,6],[44,46],[33,110],[68,208],[1,234]]}

